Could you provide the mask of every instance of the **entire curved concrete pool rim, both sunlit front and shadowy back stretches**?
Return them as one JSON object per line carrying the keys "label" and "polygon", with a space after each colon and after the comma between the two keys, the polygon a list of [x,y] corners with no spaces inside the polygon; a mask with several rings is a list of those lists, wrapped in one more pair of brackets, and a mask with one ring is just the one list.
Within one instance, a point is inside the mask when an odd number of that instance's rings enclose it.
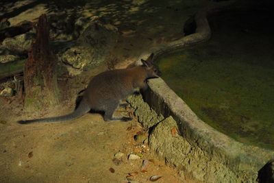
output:
{"label": "entire curved concrete pool rim, both sunlit front and shadowy back stretches", "polygon": [[[226,6],[233,2],[229,1],[199,10],[195,14],[197,29],[194,34],[147,50],[138,58],[137,64],[140,64],[140,58],[147,58],[151,52],[154,52],[157,57],[171,49],[208,40],[211,36],[211,30],[207,15],[226,10]],[[163,114],[164,117],[173,116],[177,121],[179,133],[190,144],[210,153],[212,158],[227,164],[227,167],[232,171],[258,172],[268,160],[274,157],[274,151],[239,143],[201,121],[160,78],[149,82],[149,92],[145,94],[145,101],[158,114]]]}

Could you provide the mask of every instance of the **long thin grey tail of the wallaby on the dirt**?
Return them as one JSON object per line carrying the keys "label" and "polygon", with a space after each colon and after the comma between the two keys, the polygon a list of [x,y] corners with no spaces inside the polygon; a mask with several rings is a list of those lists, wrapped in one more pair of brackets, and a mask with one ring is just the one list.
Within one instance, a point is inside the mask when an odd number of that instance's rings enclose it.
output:
{"label": "long thin grey tail of the wallaby on the dirt", "polygon": [[88,105],[87,101],[83,99],[79,103],[79,107],[74,112],[71,112],[70,114],[66,114],[61,117],[49,117],[49,118],[43,118],[43,119],[18,121],[17,123],[25,125],[29,123],[55,123],[55,122],[69,121],[69,120],[82,117],[84,114],[86,114],[89,111],[90,111],[90,106]]}

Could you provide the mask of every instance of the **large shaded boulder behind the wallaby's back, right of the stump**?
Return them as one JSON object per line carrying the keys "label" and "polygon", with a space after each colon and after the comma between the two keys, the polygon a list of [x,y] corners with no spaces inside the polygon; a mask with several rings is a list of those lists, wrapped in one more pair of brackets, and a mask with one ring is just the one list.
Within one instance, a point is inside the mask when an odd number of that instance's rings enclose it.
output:
{"label": "large shaded boulder behind the wallaby's back, right of the stump", "polygon": [[60,55],[71,75],[99,66],[110,55],[118,38],[116,27],[90,22],[74,47]]}

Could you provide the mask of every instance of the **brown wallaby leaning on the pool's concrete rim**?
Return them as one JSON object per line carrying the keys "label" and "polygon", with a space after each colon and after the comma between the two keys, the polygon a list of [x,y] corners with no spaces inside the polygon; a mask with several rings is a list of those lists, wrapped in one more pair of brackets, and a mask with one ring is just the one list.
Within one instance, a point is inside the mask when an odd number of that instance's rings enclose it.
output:
{"label": "brown wallaby leaning on the pool's concrete rim", "polygon": [[104,112],[103,119],[105,121],[130,121],[132,120],[130,117],[113,117],[114,110],[119,106],[125,106],[125,104],[120,104],[120,102],[129,95],[134,94],[136,89],[145,90],[148,79],[160,76],[161,73],[158,66],[153,64],[153,56],[154,54],[151,53],[147,60],[141,59],[142,65],[140,66],[105,71],[93,77],[86,88],[78,108],[71,114],[61,117],[18,121],[18,123],[69,121],[82,117],[82,115],[90,110]]}

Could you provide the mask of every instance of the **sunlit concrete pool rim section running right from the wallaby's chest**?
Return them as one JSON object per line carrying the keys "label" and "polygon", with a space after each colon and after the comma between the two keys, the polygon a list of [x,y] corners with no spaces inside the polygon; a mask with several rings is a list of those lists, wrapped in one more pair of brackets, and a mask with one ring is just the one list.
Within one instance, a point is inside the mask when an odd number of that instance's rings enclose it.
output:
{"label": "sunlit concrete pool rim section running right from the wallaby's chest", "polygon": [[271,150],[239,143],[201,121],[160,78],[149,82],[145,101],[164,117],[171,115],[189,143],[212,154],[212,158],[234,171],[259,171],[274,156]]}

